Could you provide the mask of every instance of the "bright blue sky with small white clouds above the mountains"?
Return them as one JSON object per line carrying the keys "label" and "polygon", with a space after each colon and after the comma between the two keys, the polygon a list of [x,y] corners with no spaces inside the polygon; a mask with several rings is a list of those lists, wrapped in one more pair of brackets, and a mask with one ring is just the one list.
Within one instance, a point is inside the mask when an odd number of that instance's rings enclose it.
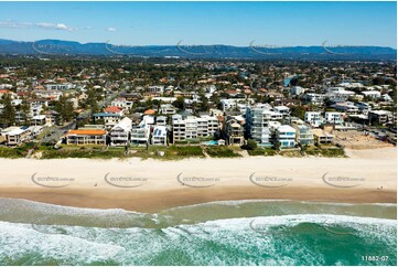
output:
{"label": "bright blue sky with small white clouds above the mountains", "polygon": [[0,39],[397,47],[396,2],[0,2]]}

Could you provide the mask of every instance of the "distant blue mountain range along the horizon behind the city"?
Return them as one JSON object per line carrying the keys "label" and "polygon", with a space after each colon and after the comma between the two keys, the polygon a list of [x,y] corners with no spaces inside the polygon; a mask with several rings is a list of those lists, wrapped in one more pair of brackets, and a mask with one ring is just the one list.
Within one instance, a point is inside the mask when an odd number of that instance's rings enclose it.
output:
{"label": "distant blue mountain range along the horizon behind the city", "polygon": [[286,60],[396,60],[397,50],[383,46],[267,46],[233,45],[114,45],[61,40],[20,42],[0,39],[0,54],[18,55],[125,55],[185,58]]}

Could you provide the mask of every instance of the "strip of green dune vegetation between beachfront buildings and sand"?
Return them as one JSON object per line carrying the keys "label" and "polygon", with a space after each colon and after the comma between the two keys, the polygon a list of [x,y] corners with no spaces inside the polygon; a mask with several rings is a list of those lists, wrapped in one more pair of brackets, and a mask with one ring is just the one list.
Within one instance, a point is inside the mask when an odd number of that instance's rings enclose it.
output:
{"label": "strip of green dune vegetation between beachfront buildings and sand", "polygon": [[[159,160],[181,160],[185,158],[204,158],[205,152],[212,158],[239,158],[240,151],[238,147],[224,146],[170,146],[170,147],[130,147],[129,153],[126,154],[123,147],[109,147],[105,149],[104,146],[65,146],[55,149],[51,143],[42,143],[40,146],[31,142],[24,143],[17,148],[0,148],[0,158],[18,159],[25,158],[30,149],[34,149],[31,154],[32,158],[39,159],[66,159],[66,158],[86,158],[86,159],[159,159]],[[163,153],[161,153],[163,152]],[[247,150],[249,156],[283,156],[300,158],[305,156],[327,157],[327,158],[343,158],[344,150],[337,147],[305,147],[301,151],[298,150],[276,150],[273,148],[256,148]]]}

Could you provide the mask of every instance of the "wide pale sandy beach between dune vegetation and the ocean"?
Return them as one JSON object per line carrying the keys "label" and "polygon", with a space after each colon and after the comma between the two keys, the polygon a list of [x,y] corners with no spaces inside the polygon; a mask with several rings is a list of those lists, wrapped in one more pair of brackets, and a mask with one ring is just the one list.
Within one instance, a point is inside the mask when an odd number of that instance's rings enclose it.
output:
{"label": "wide pale sandy beach between dune vegetation and the ocean", "polygon": [[0,197],[138,212],[224,200],[397,202],[396,148],[349,158],[0,159]]}

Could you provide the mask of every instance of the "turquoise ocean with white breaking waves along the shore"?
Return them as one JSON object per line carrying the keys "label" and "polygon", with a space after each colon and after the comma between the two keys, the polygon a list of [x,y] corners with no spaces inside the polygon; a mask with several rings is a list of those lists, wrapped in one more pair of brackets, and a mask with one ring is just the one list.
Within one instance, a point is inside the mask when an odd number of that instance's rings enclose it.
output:
{"label": "turquoise ocean with white breaking waves along the shore", "polygon": [[397,265],[397,206],[222,201],[158,214],[0,199],[0,265]]}

